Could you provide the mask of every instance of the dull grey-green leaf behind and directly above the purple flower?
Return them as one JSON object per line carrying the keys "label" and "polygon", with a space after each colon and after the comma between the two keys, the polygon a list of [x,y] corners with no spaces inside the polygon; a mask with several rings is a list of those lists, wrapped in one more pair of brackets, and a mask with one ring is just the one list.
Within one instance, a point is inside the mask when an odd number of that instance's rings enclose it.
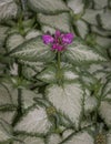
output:
{"label": "dull grey-green leaf behind and directly above the purple flower", "polygon": [[38,14],[38,19],[41,24],[59,29],[63,32],[71,31],[70,14],[68,12],[63,12],[57,16],[44,16],[40,13]]}

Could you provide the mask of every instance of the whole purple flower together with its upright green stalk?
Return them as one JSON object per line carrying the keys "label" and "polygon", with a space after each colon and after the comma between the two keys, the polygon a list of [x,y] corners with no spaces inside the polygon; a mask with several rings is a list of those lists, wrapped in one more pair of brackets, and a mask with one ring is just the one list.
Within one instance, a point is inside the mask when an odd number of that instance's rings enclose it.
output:
{"label": "whole purple flower together with its upright green stalk", "polygon": [[54,35],[43,34],[42,40],[44,44],[50,44],[52,51],[57,51],[57,82],[59,85],[62,84],[63,73],[61,69],[61,51],[65,50],[69,44],[73,41],[72,33],[61,33],[59,30],[56,31]]}

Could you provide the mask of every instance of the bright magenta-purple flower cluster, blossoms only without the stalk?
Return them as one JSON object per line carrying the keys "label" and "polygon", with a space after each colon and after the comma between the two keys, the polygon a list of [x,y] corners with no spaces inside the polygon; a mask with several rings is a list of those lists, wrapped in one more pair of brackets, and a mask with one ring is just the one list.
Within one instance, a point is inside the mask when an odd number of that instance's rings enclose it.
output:
{"label": "bright magenta-purple flower cluster, blossoms only without the stalk", "polygon": [[43,34],[42,40],[44,44],[51,44],[51,50],[62,51],[68,44],[72,43],[74,35],[72,33],[61,33],[56,31],[54,35]]}

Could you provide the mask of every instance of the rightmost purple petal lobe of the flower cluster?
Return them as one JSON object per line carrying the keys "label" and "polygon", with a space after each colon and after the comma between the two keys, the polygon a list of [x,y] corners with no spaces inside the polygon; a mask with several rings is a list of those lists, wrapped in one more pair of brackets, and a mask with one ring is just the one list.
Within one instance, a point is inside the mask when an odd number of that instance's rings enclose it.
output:
{"label": "rightmost purple petal lobe of the flower cluster", "polygon": [[73,41],[74,35],[72,33],[67,33],[62,35],[62,42],[64,44],[70,44]]}

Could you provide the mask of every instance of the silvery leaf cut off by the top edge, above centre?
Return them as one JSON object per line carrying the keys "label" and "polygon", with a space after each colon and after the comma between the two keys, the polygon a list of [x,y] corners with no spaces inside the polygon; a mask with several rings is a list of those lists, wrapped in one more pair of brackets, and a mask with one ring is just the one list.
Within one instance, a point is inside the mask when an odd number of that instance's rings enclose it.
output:
{"label": "silvery leaf cut off by the top edge, above centre", "polygon": [[29,7],[36,12],[58,13],[69,9],[62,0],[28,0]]}

